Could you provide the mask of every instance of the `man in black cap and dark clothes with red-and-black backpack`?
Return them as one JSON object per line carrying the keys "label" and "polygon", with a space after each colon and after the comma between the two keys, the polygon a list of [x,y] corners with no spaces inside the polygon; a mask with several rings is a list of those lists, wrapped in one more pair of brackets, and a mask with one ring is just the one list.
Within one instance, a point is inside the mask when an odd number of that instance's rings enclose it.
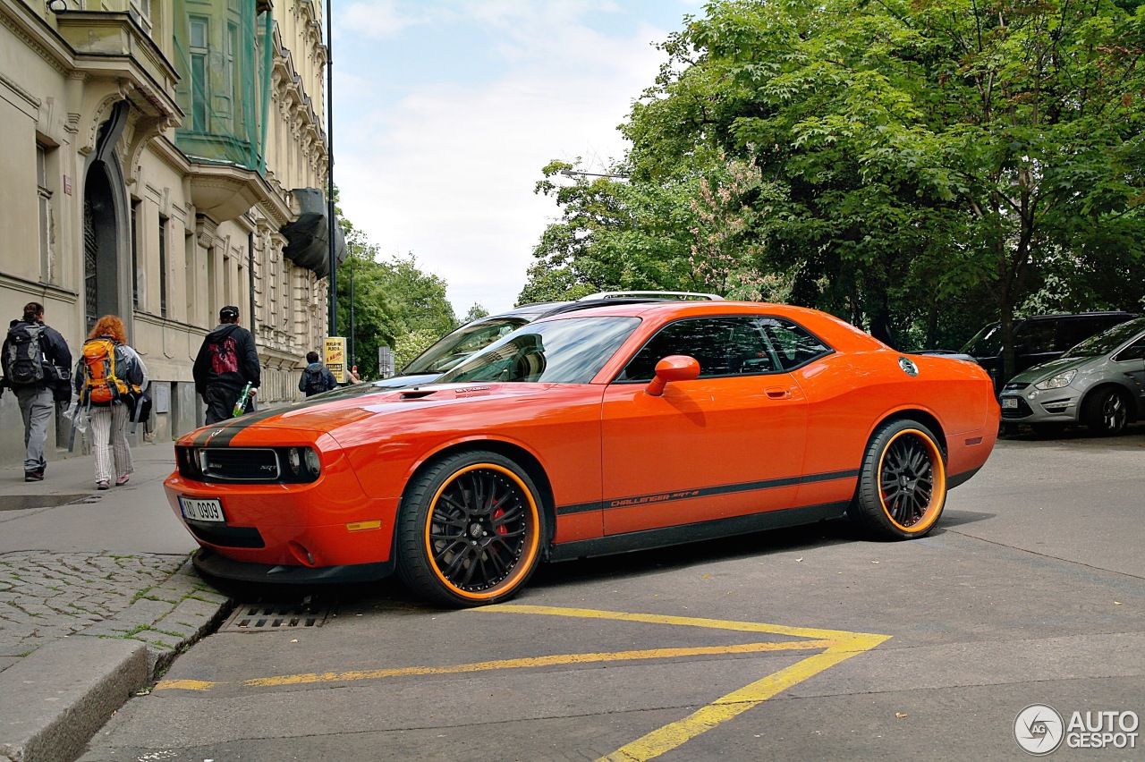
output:
{"label": "man in black cap and dark clothes with red-and-black backpack", "polygon": [[192,373],[195,391],[207,404],[207,423],[231,418],[238,395],[247,383],[251,396],[243,412],[254,411],[254,391],[261,380],[259,352],[254,336],[238,325],[237,307],[219,310],[219,326],[203,340]]}

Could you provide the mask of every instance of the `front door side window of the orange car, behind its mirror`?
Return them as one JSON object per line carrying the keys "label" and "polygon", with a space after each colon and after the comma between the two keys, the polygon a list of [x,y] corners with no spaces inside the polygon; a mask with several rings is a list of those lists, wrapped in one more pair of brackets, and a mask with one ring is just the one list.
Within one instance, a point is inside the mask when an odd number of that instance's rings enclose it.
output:
{"label": "front door side window of the orange car, behind its mirror", "polygon": [[671,323],[648,340],[629,362],[618,381],[650,381],[656,363],[669,355],[687,355],[700,363],[700,378],[756,375],[779,370],[752,316],[686,318]]}

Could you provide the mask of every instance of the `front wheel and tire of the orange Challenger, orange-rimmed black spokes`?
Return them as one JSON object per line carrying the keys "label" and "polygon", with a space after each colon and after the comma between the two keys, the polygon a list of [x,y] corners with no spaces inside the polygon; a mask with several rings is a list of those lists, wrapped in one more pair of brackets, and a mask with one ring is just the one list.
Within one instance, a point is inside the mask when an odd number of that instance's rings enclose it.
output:
{"label": "front wheel and tire of the orange Challenger, orange-rimmed black spokes", "polygon": [[505,601],[540,558],[540,505],[532,479],[508,458],[487,451],[448,455],[411,479],[402,497],[397,573],[435,603]]}

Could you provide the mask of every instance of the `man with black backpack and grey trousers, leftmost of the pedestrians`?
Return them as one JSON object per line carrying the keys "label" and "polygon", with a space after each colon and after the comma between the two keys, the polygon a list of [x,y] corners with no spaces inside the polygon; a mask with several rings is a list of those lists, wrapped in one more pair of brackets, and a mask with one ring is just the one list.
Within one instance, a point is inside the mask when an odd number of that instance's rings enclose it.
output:
{"label": "man with black backpack and grey trousers, leftmost of the pedestrians", "polygon": [[44,458],[48,421],[56,388],[69,386],[71,350],[58,331],[44,324],[44,304],[29,302],[24,317],[9,325],[0,358],[3,384],[16,395],[24,419],[24,481],[40,482],[48,466]]}

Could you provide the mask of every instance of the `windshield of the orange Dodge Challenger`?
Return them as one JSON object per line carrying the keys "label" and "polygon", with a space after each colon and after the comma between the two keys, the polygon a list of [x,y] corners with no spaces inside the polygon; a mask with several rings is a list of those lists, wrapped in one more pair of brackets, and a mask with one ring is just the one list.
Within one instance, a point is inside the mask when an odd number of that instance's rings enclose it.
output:
{"label": "windshield of the orange Dodge Challenger", "polygon": [[637,326],[634,317],[581,317],[534,323],[437,379],[587,383]]}

